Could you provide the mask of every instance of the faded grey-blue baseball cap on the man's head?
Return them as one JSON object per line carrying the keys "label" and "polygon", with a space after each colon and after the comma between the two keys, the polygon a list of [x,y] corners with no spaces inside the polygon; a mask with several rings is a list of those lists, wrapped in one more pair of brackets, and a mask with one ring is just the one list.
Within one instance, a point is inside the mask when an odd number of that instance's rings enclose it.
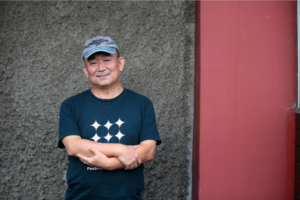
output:
{"label": "faded grey-blue baseball cap on the man's head", "polygon": [[114,54],[116,49],[119,51],[117,44],[110,37],[97,36],[85,42],[82,56],[88,58],[96,52]]}

